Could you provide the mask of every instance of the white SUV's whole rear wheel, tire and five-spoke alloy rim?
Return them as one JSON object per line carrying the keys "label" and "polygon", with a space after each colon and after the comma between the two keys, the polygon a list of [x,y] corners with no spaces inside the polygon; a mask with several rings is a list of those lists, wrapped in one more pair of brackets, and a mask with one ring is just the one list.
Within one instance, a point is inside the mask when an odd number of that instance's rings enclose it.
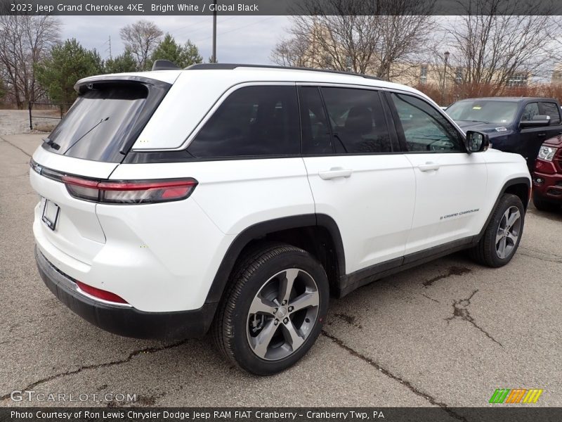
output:
{"label": "white SUV's whole rear wheel, tire and five-spoke alloy rim", "polygon": [[242,257],[214,321],[219,350],[242,369],[271,375],[295,364],[322,329],[326,273],[300,248],[264,244]]}

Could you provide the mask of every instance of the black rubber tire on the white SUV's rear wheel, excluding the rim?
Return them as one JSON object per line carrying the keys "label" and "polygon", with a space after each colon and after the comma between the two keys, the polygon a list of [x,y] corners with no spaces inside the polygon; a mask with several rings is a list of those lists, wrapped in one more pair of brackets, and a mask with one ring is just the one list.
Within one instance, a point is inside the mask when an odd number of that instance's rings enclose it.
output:
{"label": "black rubber tire on the white SUV's rear wheel, excluding the rim", "polygon": [[[306,307],[308,310],[303,309],[302,311],[295,311],[294,314],[290,315],[292,320],[289,321],[288,324],[291,324],[292,328],[296,328],[298,324],[298,322],[295,322],[293,325],[293,321],[296,321],[297,317],[302,318],[301,324],[305,324],[305,319],[307,321],[307,334],[303,337],[303,343],[295,347],[295,350],[292,350],[292,344],[287,342],[283,344],[282,347],[266,346],[266,350],[268,350],[266,353],[287,352],[289,353],[288,356],[280,357],[280,359],[268,359],[267,355],[259,357],[250,344],[251,331],[260,329],[251,325],[251,315],[254,314],[250,312],[250,307],[256,302],[258,295],[262,294],[261,292],[264,291],[266,288],[265,286],[272,285],[268,283],[276,283],[277,279],[275,279],[275,277],[277,277],[278,274],[284,273],[285,270],[292,271],[292,274],[293,271],[296,271],[299,274],[296,276],[296,279],[294,279],[294,288],[289,289],[296,296],[298,296],[296,294],[296,288],[299,287],[297,284],[302,282],[299,277],[304,277],[306,283],[311,283],[310,279],[313,279],[315,286],[317,286],[318,307]],[[284,280],[289,279],[287,274],[289,274],[289,272],[282,274],[280,277]],[[282,290],[281,285],[282,281],[278,281],[279,291]],[[308,290],[304,290],[304,293],[307,292]],[[275,298],[277,298],[278,295],[280,296],[281,293],[275,292]],[[271,297],[270,295],[270,298]],[[211,327],[212,337],[218,350],[220,350],[230,362],[233,362],[241,369],[256,375],[272,375],[294,365],[312,347],[322,330],[322,324],[327,313],[328,301],[329,285],[325,270],[311,254],[306,252],[306,250],[296,248],[292,245],[261,243],[248,250],[244,256],[240,257],[238,260],[233,274],[231,274],[228,288],[218,307],[213,326]],[[268,327],[271,327],[271,330],[275,331],[273,339],[277,339],[275,340],[277,343],[285,341],[287,336],[289,336],[289,339],[291,338],[288,331],[289,325],[287,325],[287,323],[285,323],[285,326],[283,325],[284,319],[277,320],[280,318],[279,315],[281,311],[288,311],[290,302],[289,300],[287,305],[283,305],[283,309],[281,307],[275,308],[277,314],[274,316],[264,314],[261,321],[261,330],[263,332],[265,332]],[[297,316],[298,312],[301,312],[300,316]],[[306,314],[306,318],[302,317],[302,312],[315,312],[315,318],[308,318],[308,314]],[[259,316],[261,317],[261,314],[259,314]],[[288,317],[289,315],[287,315],[285,319],[289,319]],[[263,322],[266,319],[268,322]],[[269,324],[275,321],[277,322],[275,328],[273,328]],[[256,323],[255,316],[253,322]],[[300,334],[303,326],[304,325],[301,325],[299,328],[296,328],[295,331]],[[294,331],[292,332],[294,333]],[[273,343],[272,340],[270,341]],[[270,343],[267,344],[270,345]]]}

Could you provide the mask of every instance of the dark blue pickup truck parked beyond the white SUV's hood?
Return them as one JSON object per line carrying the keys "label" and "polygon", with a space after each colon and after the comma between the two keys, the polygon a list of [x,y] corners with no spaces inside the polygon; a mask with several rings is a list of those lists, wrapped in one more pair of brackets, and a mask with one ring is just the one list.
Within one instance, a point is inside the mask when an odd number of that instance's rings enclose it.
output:
{"label": "dark blue pickup truck parked beyond the white SUV's hood", "polygon": [[469,98],[447,108],[462,129],[488,134],[492,148],[523,155],[530,171],[544,140],[562,131],[560,113],[554,98]]}

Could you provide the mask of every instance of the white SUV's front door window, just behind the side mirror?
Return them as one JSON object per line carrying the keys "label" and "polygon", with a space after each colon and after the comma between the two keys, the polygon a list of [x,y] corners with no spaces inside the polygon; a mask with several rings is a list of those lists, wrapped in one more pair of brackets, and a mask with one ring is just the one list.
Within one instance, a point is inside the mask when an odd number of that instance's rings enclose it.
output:
{"label": "white SUV's front door window, just behind the side mirror", "polygon": [[433,106],[410,95],[391,94],[404,131],[407,151],[466,152],[457,129]]}

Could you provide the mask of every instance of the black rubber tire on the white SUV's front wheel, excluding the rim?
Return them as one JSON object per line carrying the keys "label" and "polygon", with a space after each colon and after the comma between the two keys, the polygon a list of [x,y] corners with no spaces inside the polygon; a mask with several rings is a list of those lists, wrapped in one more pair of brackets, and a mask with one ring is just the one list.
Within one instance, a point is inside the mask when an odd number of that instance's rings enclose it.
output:
{"label": "black rubber tire on the white SUV's front wheel, excluding the rim", "polygon": [[[516,241],[511,245],[509,253],[504,252],[505,256],[501,257],[501,252],[498,251],[497,237],[500,232],[500,224],[503,224],[503,218],[508,210],[512,210],[516,207],[520,214],[520,227],[518,229],[518,234]],[[471,257],[479,262],[480,264],[487,265],[488,267],[503,267],[511,258],[514,257],[519,243],[521,242],[521,236],[523,235],[523,226],[525,225],[525,208],[521,199],[512,195],[511,193],[504,193],[502,198],[499,200],[497,207],[486,226],[484,234],[478,244],[470,250]],[[508,230],[509,231],[509,230]],[[509,239],[511,241],[511,238]],[[500,241],[501,243],[502,241]],[[505,247],[505,243],[504,243]]]}

